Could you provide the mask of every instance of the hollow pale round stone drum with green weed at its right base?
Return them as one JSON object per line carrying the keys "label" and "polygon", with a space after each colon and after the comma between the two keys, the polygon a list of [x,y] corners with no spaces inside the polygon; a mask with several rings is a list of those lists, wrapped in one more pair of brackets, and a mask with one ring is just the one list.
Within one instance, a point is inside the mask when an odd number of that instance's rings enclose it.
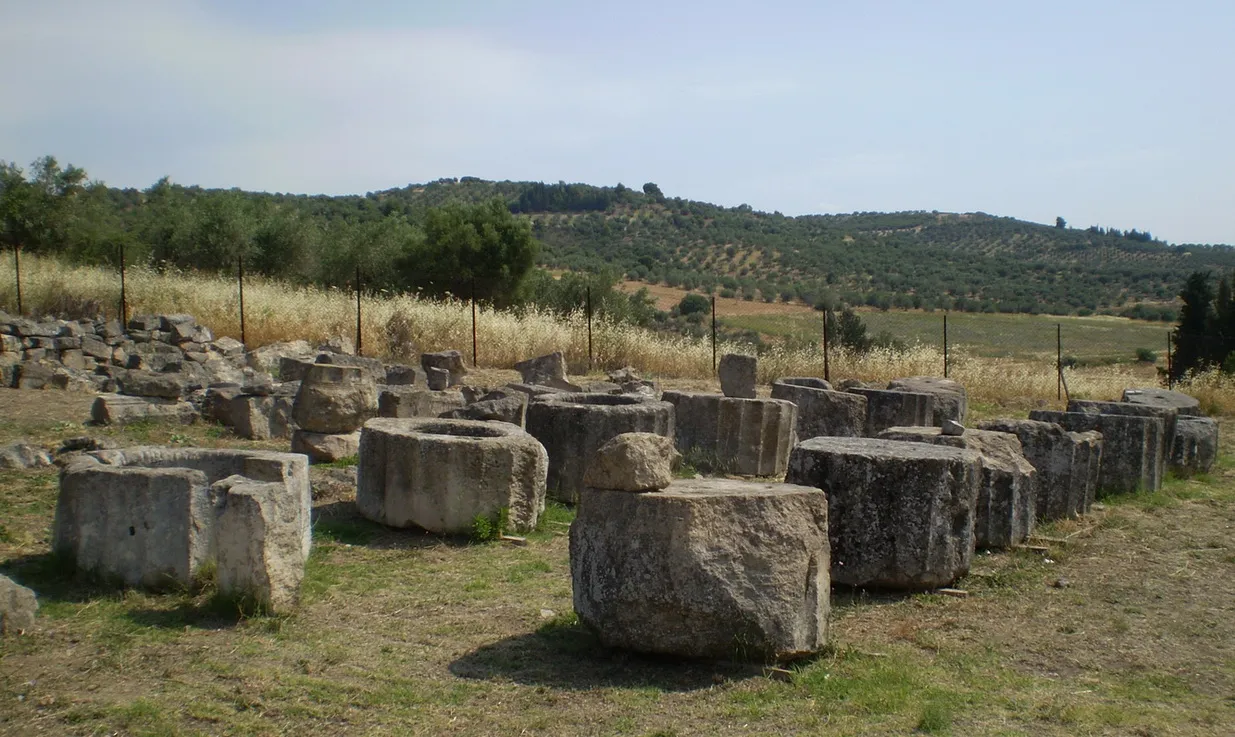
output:
{"label": "hollow pale round stone drum with green weed at its right base", "polygon": [[513,530],[531,530],[547,473],[545,448],[514,425],[379,417],[361,431],[356,505],[375,522],[443,535],[505,509]]}

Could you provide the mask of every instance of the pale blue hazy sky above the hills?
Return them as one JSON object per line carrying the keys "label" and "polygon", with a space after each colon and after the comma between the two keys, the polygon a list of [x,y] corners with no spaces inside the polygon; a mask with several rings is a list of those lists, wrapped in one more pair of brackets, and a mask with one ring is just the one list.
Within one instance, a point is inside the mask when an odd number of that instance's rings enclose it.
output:
{"label": "pale blue hazy sky above the hills", "polygon": [[4,0],[0,159],[584,181],[1235,244],[1235,2]]}

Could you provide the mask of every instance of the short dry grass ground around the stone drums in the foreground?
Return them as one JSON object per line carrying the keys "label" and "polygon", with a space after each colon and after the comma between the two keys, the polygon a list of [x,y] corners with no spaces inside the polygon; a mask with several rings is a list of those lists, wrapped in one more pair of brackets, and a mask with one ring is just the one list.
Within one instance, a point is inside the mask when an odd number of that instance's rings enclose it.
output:
{"label": "short dry grass ground around the stone drums in the foreground", "polygon": [[[0,390],[0,443],[280,447],[205,423],[85,427],[88,407]],[[526,547],[390,531],[316,468],[303,606],[245,616],[209,580],[149,594],[74,575],[49,554],[56,472],[2,472],[0,572],[42,609],[0,641],[0,733],[1230,735],[1230,453],[1040,530],[1045,553],[981,554],[966,599],[834,591],[831,647],[788,673],[600,647],[572,614],[564,507]]]}

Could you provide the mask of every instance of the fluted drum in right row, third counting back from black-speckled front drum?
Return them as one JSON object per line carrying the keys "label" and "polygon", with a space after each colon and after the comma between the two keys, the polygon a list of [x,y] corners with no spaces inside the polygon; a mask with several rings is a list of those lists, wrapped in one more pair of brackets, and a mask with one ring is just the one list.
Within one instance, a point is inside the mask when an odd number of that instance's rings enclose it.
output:
{"label": "fluted drum in right row, third counting back from black-speckled front drum", "polygon": [[1098,490],[1103,438],[1097,432],[1068,432],[1039,420],[987,420],[978,428],[1008,432],[1037,470],[1035,521],[1088,514]]}

